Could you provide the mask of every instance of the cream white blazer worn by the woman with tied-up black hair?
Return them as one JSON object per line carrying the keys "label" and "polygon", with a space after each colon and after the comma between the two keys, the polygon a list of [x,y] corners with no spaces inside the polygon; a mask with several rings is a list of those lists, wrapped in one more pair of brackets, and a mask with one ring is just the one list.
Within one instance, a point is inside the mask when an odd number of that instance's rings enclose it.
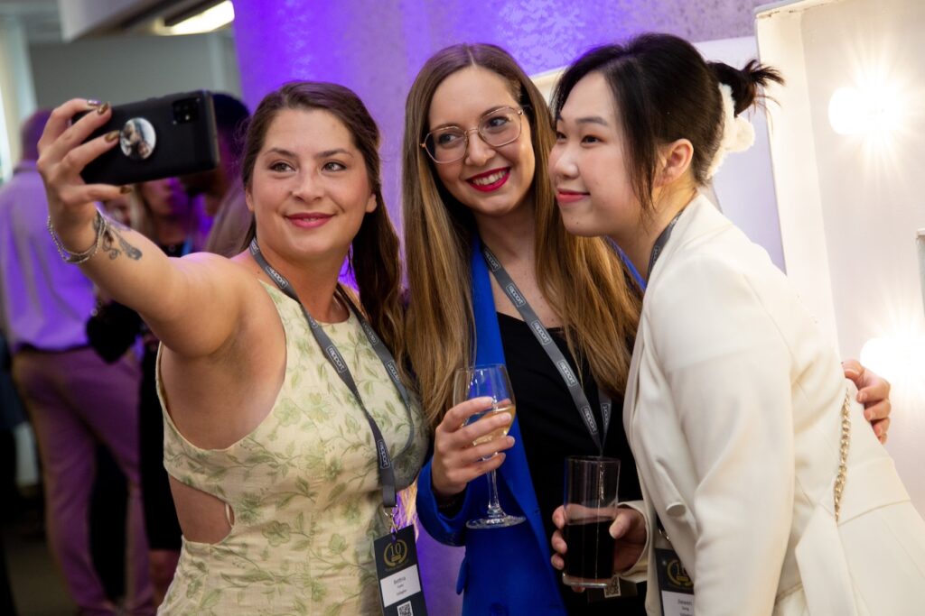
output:
{"label": "cream white blazer worn by the woman with tied-up black hair", "polygon": [[[649,536],[657,512],[697,614],[925,613],[925,523],[853,389],[835,522],[848,387],[783,273],[697,197],[651,273],[623,407]],[[660,614],[654,566],[648,588]]]}

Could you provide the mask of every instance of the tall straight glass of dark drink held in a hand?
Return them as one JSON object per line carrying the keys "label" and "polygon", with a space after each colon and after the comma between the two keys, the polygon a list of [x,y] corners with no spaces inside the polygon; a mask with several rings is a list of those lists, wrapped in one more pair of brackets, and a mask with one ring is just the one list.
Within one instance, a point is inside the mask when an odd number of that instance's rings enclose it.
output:
{"label": "tall straight glass of dark drink held in a hand", "polygon": [[617,514],[620,460],[569,456],[565,459],[565,528],[563,536],[568,586],[603,588],[613,577],[611,524]]}

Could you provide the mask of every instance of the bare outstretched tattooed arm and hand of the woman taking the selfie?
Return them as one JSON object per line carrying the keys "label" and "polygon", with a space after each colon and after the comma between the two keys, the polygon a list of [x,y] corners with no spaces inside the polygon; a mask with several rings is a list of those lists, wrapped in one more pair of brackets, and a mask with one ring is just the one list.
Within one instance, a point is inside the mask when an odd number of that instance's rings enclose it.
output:
{"label": "bare outstretched tattooed arm and hand of the woman taking the selfie", "polygon": [[[72,122],[80,112],[91,111]],[[95,201],[123,188],[86,184],[80,171],[118,141],[117,131],[84,143],[109,119],[108,104],[72,99],[57,107],[39,140],[38,169],[48,194],[50,231],[59,248],[107,296],[134,308],[166,346],[181,356],[207,356],[236,331],[248,277],[211,255],[168,259],[139,233],[108,220]]]}

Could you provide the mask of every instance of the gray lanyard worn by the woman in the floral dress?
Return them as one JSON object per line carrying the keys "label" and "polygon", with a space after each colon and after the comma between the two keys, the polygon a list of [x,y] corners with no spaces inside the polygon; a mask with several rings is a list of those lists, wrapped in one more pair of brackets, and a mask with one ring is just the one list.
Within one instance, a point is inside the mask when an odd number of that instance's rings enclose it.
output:
{"label": "gray lanyard worn by the woman in the floral dress", "polygon": [[[386,447],[386,440],[382,436],[382,431],[376,425],[376,420],[373,419],[373,416],[369,414],[369,411],[366,410],[366,405],[364,405],[363,398],[360,396],[360,390],[357,389],[356,381],[353,380],[353,375],[351,374],[350,368],[347,368],[347,362],[344,361],[343,356],[340,355],[338,347],[331,342],[331,339],[327,336],[327,333],[321,328],[318,324],[318,321],[312,318],[312,315],[308,313],[308,310],[305,309],[302,301],[299,299],[299,296],[295,294],[295,290],[292,288],[292,285],[286,278],[273,269],[269,263],[266,262],[263,253],[260,252],[260,246],[257,244],[257,238],[254,237],[251,241],[251,255],[253,259],[264,269],[266,275],[270,277],[274,283],[277,284],[279,290],[289,296],[294,300],[299,308],[302,308],[302,314],[305,315],[305,320],[308,321],[309,329],[314,336],[315,342],[318,343],[318,346],[324,351],[327,361],[334,367],[335,371],[338,373],[340,380],[347,385],[347,388],[353,394],[353,397],[356,398],[357,404],[360,405],[360,408],[363,409],[363,413],[366,416],[366,421],[369,422],[369,428],[373,430],[373,439],[376,441],[376,456],[378,459],[379,465],[379,478],[382,480],[382,504],[386,509],[392,509],[395,507],[396,498],[395,498],[395,470],[392,467],[391,457],[388,455],[388,448]],[[405,411],[408,414],[408,441],[405,443],[404,448],[401,450],[402,453],[408,451],[408,448],[411,447],[411,442],[414,435],[414,423],[411,416],[411,396],[408,394],[408,390],[405,389],[404,384],[399,379],[398,367],[395,364],[395,359],[392,357],[392,354],[388,352],[388,348],[376,335],[376,332],[373,331],[373,328],[366,322],[363,318],[363,315],[360,314],[360,311],[353,305],[353,302],[346,293],[340,290],[338,285],[339,296],[347,302],[347,305],[350,307],[351,312],[356,315],[357,320],[360,321],[360,325],[363,327],[363,331],[366,334],[366,338],[369,340],[369,344],[373,347],[373,351],[376,352],[376,356],[379,357],[379,361],[382,362],[382,365],[386,367],[386,372],[388,372],[388,378],[392,380],[392,384],[395,385],[395,389],[398,390],[399,395],[401,396],[401,401],[405,405]]]}

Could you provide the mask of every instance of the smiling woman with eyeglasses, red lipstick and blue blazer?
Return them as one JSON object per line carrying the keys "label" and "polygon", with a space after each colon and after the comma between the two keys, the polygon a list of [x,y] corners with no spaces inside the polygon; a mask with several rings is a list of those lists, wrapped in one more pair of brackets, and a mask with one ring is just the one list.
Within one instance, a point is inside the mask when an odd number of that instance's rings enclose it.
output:
{"label": "smiling woman with eyeglasses, red lipstick and blue blazer", "polygon": [[[441,50],[415,79],[405,114],[406,359],[435,430],[417,508],[431,536],[466,548],[463,614],[643,614],[639,598],[573,593],[549,564],[565,456],[620,458],[621,500],[640,493],[620,417],[639,310],[633,275],[604,240],[565,232],[548,172],[549,111],[511,55],[487,44]],[[500,268],[489,272],[487,261]],[[451,407],[452,378],[487,363],[506,364],[517,418],[508,436],[474,446],[507,419],[463,427],[484,404]],[[866,391],[880,400],[887,388],[876,380]],[[501,507],[526,522],[468,529],[485,513],[478,477],[492,469]],[[644,537],[629,527],[623,541]]]}

